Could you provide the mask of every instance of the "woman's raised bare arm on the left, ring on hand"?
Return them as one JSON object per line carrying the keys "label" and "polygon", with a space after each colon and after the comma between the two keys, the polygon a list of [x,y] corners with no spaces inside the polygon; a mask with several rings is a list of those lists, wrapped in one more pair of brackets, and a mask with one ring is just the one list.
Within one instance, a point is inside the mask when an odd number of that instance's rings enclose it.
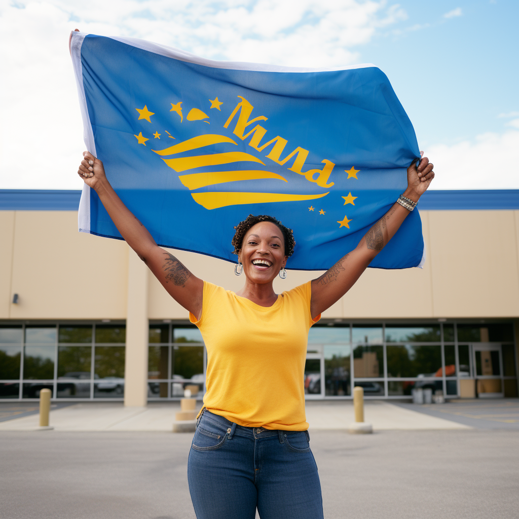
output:
{"label": "woman's raised bare arm on the left, ring on hand", "polygon": [[98,194],[121,236],[155,274],[171,297],[200,318],[203,281],[193,276],[175,256],[155,243],[146,227],[117,196],[106,178],[103,163],[88,152],[84,152],[83,156],[78,174]]}

